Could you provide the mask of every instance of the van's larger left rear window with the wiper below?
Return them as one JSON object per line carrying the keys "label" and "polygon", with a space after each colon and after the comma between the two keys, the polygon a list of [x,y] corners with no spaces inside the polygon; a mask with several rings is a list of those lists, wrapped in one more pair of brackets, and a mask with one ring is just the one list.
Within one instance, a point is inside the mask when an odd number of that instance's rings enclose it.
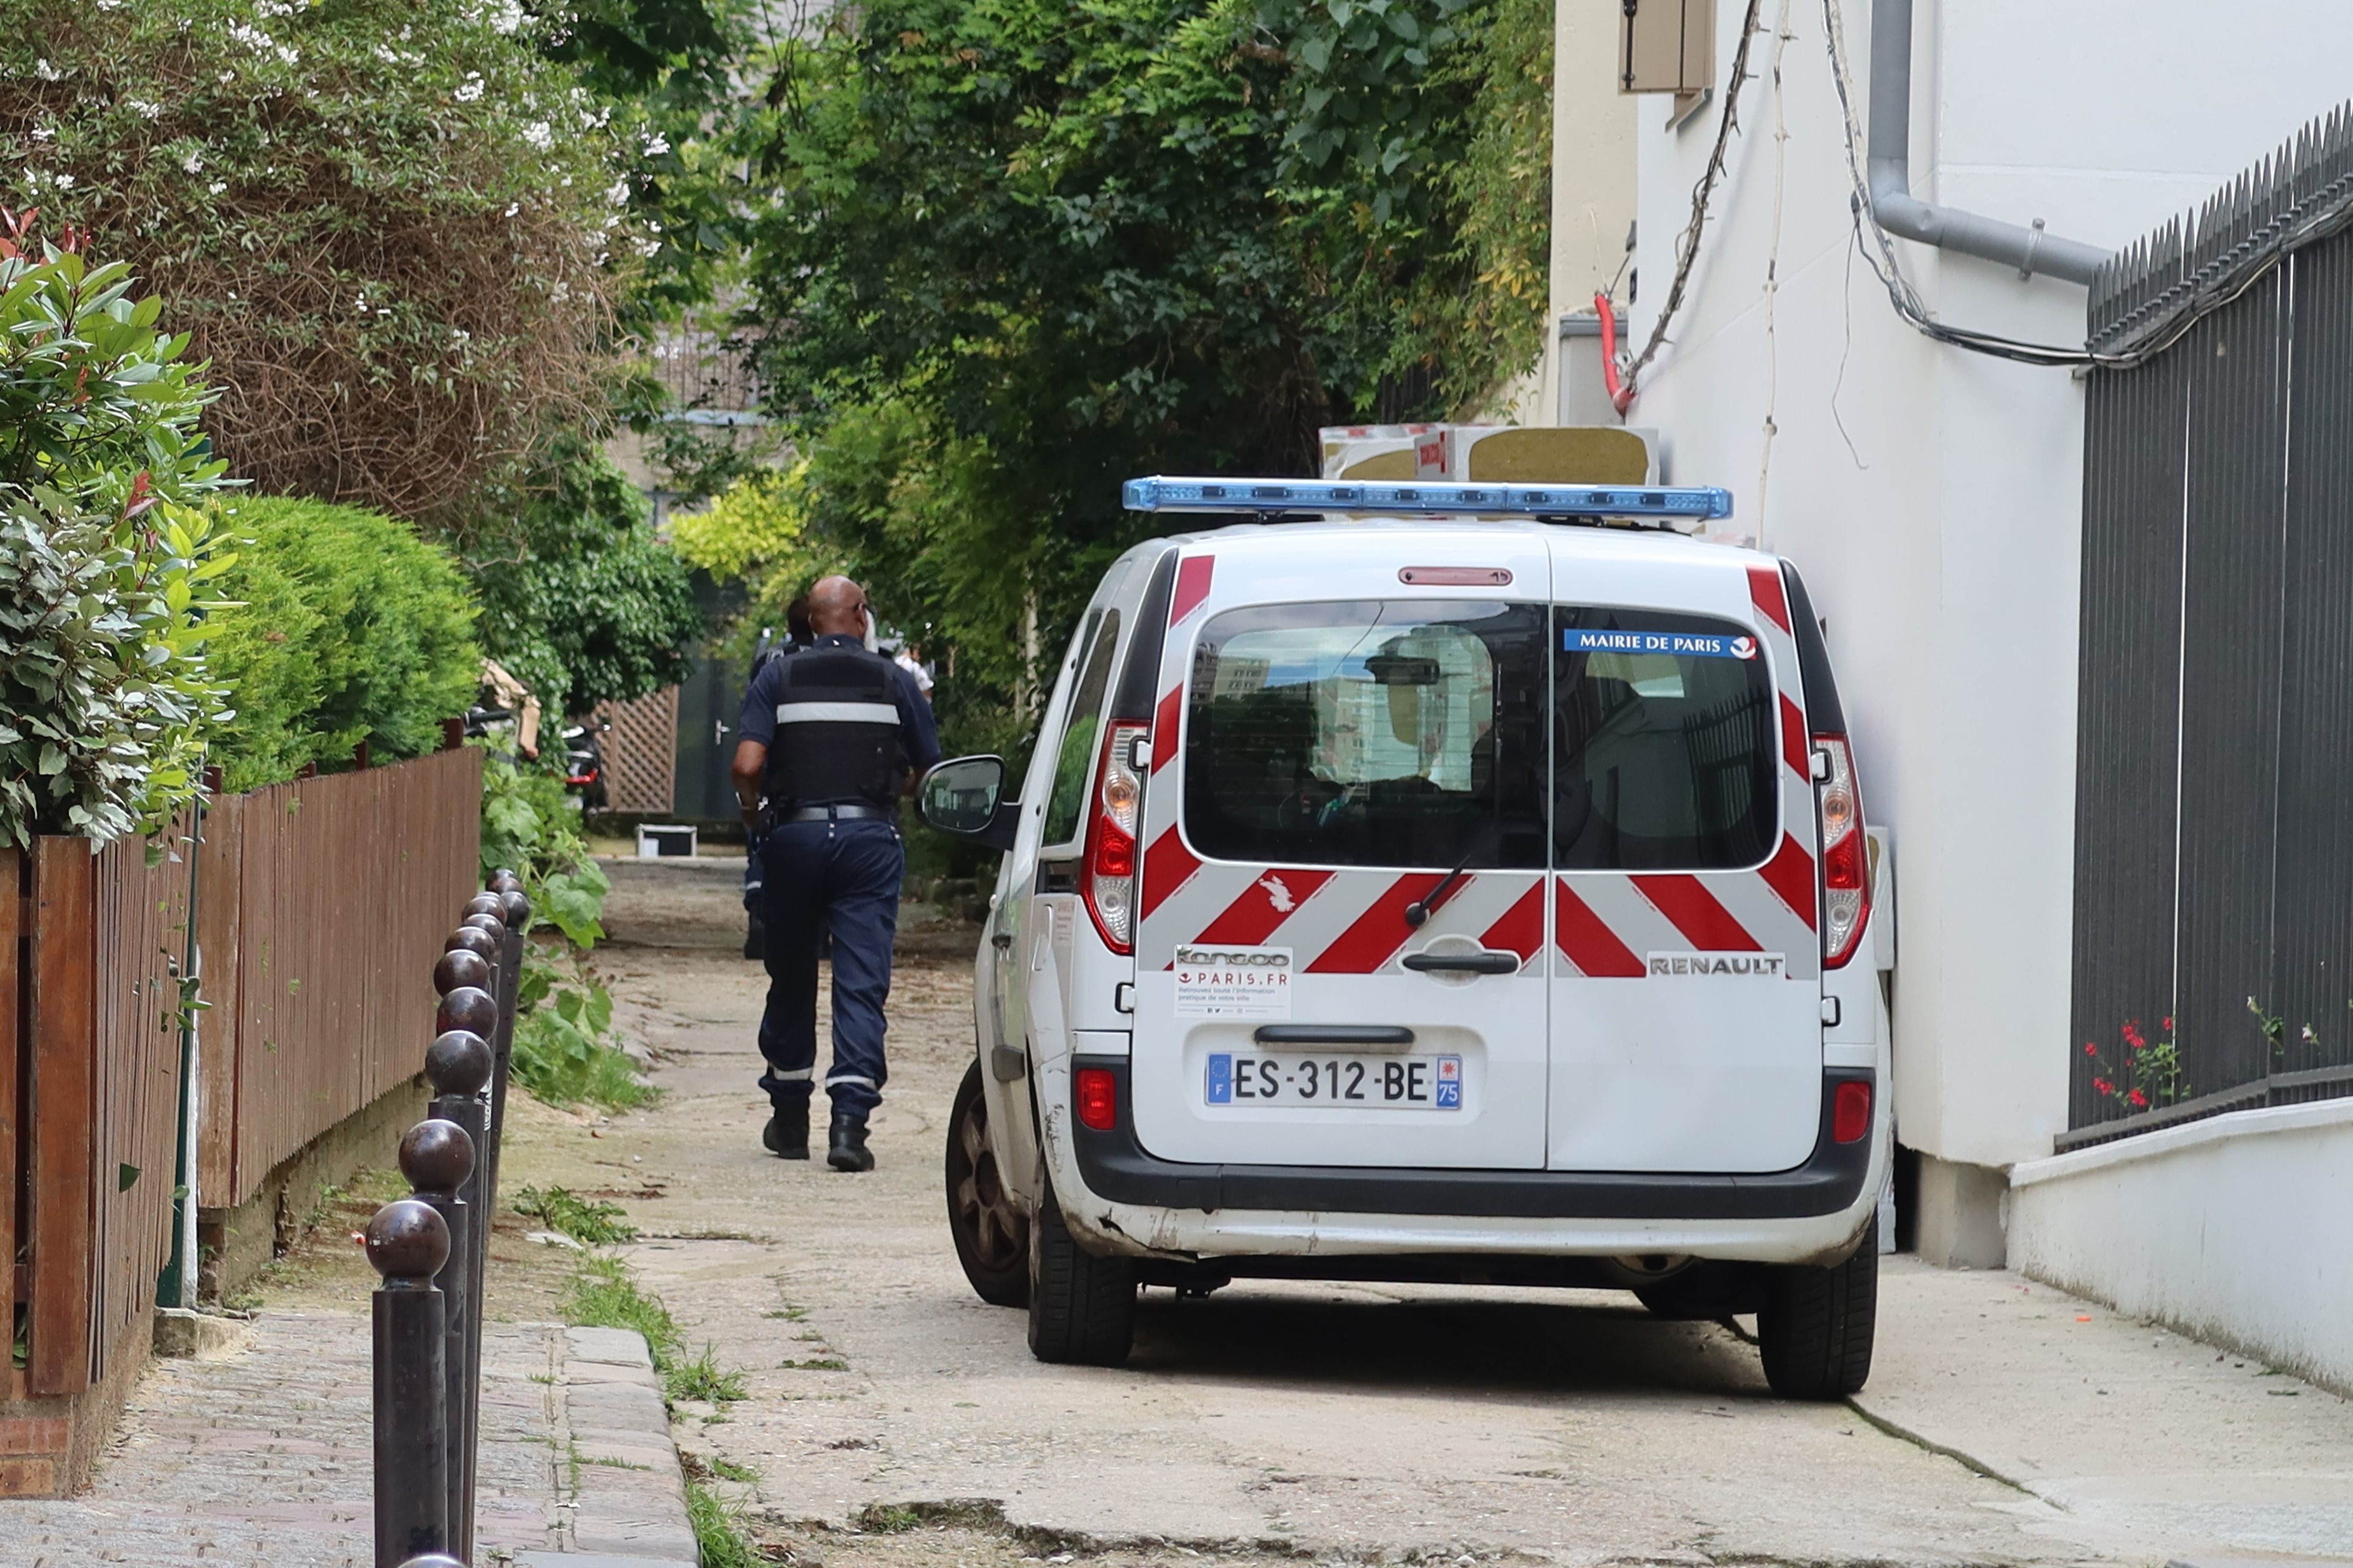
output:
{"label": "van's larger left rear window with the wiper below", "polygon": [[1202,856],[1544,865],[1546,609],[1264,604],[1193,651],[1184,823]]}

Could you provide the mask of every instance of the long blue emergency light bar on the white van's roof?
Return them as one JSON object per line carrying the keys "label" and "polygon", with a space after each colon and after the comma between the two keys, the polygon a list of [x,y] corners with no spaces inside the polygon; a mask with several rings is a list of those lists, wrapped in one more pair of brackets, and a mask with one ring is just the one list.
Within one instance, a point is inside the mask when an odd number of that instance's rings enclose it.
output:
{"label": "long blue emergency light bar on the white van's roof", "polygon": [[1367,484],[1362,480],[1129,480],[1129,512],[1452,512],[1457,517],[1729,517],[1704,484]]}

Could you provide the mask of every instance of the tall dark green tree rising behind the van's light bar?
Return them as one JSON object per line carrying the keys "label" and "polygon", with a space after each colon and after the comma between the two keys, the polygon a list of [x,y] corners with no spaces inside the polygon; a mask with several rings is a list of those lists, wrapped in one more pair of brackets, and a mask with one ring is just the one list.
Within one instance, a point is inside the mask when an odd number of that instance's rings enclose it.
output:
{"label": "tall dark green tree rising behind the van's light bar", "polygon": [[882,0],[779,49],[762,367],[812,545],[955,644],[944,719],[1019,729],[1033,661],[1151,527],[1120,480],[1313,470],[1327,418],[1499,381],[1452,176],[1492,16]]}

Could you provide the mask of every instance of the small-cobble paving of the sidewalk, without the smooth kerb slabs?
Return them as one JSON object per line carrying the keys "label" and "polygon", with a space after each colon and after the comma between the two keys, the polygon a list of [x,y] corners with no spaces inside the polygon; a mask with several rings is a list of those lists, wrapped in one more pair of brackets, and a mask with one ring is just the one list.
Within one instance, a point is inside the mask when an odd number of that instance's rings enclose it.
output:
{"label": "small-cobble paving of the sidewalk, without the smooth kerb slabs", "polygon": [[[565,1361],[560,1326],[485,1335],[485,1559],[567,1544]],[[155,1361],[85,1495],[0,1505],[0,1563],[369,1568],[372,1493],[367,1319],[266,1314],[242,1349]]]}

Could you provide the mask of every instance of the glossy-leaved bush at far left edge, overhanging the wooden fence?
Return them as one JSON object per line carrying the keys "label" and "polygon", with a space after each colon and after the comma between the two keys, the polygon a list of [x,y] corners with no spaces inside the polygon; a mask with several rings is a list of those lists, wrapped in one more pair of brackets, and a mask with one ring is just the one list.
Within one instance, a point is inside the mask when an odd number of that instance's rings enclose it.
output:
{"label": "glossy-leaved bush at far left edge, overhanging the wooden fence", "polygon": [[160,827],[226,717],[209,393],[129,287],[0,212],[0,842]]}

